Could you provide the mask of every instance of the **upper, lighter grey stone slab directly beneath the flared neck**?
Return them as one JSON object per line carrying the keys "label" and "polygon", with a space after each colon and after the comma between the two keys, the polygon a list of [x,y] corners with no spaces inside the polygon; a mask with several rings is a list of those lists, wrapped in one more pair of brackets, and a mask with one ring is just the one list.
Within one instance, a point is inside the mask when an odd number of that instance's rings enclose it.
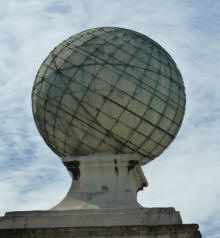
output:
{"label": "upper, lighter grey stone slab directly beneath the flared neck", "polygon": [[182,224],[174,208],[9,212],[0,229]]}

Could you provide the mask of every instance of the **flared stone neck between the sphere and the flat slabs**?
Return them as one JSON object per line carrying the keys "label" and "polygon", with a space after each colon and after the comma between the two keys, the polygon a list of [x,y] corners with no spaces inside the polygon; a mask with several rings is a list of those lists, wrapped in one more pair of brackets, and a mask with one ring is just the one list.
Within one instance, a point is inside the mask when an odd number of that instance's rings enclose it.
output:
{"label": "flared stone neck between the sphere and the flat slabs", "polygon": [[147,186],[136,154],[98,153],[62,158],[72,177],[66,197],[52,210],[139,208],[137,192]]}

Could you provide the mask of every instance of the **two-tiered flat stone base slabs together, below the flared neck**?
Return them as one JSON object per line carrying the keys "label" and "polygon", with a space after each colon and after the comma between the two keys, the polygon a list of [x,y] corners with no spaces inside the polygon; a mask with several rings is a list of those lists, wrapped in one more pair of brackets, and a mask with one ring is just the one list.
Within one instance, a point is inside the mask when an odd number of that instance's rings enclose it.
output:
{"label": "two-tiered flat stone base slabs together, below the flared neck", "polygon": [[183,225],[174,208],[9,212],[0,238],[141,237],[200,238],[198,225]]}

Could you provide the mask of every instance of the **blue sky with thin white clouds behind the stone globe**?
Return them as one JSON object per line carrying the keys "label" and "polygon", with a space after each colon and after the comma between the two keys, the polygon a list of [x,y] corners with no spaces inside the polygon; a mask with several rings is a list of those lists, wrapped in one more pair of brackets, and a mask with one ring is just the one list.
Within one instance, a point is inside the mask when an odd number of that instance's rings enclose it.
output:
{"label": "blue sky with thin white clouds behind the stone globe", "polygon": [[144,167],[145,207],[175,207],[203,237],[220,237],[220,1],[0,0],[0,215],[49,209],[70,177],[40,137],[31,90],[49,52],[88,28],[118,26],[161,44],[185,82],[182,128]]}

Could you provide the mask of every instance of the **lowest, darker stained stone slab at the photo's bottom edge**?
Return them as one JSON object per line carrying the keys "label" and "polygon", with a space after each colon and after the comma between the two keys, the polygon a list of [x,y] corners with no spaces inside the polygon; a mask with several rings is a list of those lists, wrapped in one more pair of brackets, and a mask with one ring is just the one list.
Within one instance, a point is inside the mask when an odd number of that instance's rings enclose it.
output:
{"label": "lowest, darker stained stone slab at the photo's bottom edge", "polygon": [[0,238],[201,238],[198,225],[0,229]]}

